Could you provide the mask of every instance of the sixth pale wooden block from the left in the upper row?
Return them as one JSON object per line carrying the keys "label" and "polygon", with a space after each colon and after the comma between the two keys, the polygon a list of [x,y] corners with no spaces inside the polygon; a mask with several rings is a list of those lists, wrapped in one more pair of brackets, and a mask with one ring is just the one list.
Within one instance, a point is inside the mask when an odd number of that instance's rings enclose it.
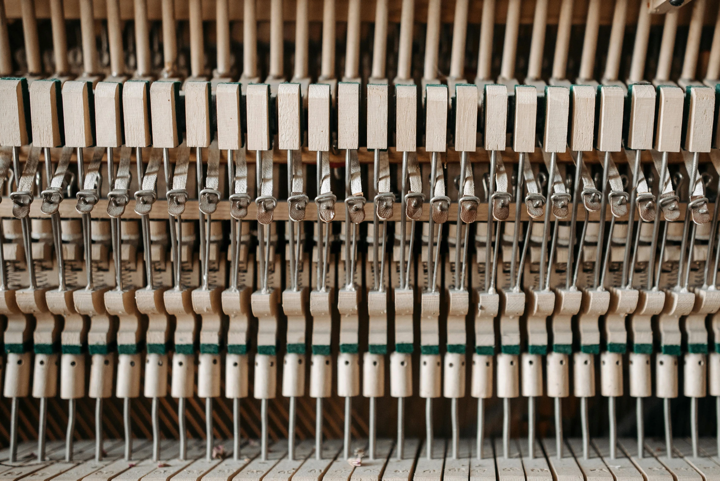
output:
{"label": "sixth pale wooden block from the left in the upper row", "polygon": [[176,99],[180,82],[157,81],[150,85],[150,118],[153,122],[153,145],[174,148],[180,143]]}

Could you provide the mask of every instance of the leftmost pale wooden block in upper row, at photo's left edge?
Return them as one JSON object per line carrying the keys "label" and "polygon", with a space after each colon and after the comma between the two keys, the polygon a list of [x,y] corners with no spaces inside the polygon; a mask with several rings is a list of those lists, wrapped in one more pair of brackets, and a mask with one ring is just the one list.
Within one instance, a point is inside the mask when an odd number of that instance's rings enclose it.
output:
{"label": "leftmost pale wooden block in upper row, at photo's left edge", "polygon": [[0,78],[0,145],[20,147],[32,142],[29,97],[24,78]]}

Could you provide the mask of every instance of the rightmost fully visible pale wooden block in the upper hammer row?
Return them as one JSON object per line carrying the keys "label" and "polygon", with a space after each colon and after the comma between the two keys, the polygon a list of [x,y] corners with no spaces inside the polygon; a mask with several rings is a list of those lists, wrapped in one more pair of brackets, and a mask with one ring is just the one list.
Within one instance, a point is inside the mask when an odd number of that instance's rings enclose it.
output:
{"label": "rightmost fully visible pale wooden block in the upper hammer row", "polygon": [[685,150],[709,152],[712,143],[715,91],[710,87],[689,86],[685,91]]}

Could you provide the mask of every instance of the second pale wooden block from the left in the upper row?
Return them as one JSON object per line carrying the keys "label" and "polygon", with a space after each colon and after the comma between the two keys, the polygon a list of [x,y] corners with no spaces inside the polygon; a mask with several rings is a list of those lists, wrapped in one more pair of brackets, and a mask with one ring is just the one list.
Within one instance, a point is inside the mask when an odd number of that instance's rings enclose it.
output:
{"label": "second pale wooden block from the left in the upper row", "polygon": [[63,131],[60,129],[58,112],[59,90],[59,80],[36,80],[30,84],[32,145],[37,147],[63,145]]}

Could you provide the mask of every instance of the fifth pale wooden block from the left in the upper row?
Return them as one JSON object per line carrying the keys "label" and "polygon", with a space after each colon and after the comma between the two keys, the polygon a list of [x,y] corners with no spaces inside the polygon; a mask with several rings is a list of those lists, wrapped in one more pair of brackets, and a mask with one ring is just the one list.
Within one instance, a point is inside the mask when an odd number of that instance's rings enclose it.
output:
{"label": "fifth pale wooden block from the left in the upper row", "polygon": [[[122,87],[122,116],[125,119],[125,145],[148,147],[150,133],[150,82],[130,80]],[[208,117],[210,117],[208,115]]]}

